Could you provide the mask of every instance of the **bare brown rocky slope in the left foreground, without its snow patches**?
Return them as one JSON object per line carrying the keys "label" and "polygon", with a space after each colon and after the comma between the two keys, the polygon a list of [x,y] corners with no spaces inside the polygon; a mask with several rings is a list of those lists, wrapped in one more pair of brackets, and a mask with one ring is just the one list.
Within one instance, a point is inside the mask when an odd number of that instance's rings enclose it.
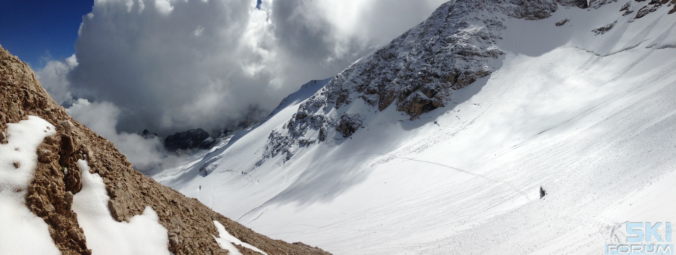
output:
{"label": "bare brown rocky slope in the left foreground, without its snow patches", "polygon": [[[82,159],[88,160],[91,172],[103,178],[110,195],[108,208],[112,217],[129,221],[150,206],[157,212],[159,223],[168,230],[168,250],[174,254],[226,254],[214,240],[218,230],[213,221],[268,254],[327,253],[255,233],[197,200],[141,175],[110,141],[68,116],[47,95],[32,70],[0,47],[0,141],[7,143],[8,123],[26,120],[29,115],[53,124],[57,135],[47,137],[37,149],[39,162],[25,202],[49,225],[49,234],[63,254],[91,254],[86,233],[71,208],[73,195],[82,189],[82,170],[76,164]],[[243,246],[237,248],[243,254],[257,254]]]}

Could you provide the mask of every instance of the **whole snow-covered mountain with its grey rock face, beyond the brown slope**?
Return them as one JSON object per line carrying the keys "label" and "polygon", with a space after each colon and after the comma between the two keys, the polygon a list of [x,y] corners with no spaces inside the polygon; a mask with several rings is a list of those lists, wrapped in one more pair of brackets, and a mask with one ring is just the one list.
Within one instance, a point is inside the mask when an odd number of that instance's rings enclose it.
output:
{"label": "whole snow-covered mountain with its grey rock face, beyond the brown slope", "polygon": [[604,253],[676,221],[675,7],[450,1],[154,178],[335,254]]}

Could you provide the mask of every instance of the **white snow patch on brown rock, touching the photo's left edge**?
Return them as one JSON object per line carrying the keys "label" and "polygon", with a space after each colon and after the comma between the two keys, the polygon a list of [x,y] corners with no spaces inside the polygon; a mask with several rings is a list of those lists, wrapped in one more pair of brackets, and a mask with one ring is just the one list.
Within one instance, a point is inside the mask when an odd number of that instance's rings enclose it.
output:
{"label": "white snow patch on brown rock, touching the photo's left edge", "polygon": [[61,254],[42,218],[24,202],[37,166],[37,147],[56,129],[28,116],[7,124],[7,144],[0,144],[0,254]]}

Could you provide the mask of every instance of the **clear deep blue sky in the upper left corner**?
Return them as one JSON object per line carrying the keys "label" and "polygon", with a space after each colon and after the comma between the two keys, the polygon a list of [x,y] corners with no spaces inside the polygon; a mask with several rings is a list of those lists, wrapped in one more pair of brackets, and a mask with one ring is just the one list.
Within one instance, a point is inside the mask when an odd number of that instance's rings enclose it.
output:
{"label": "clear deep blue sky in the upper left corner", "polygon": [[75,53],[82,16],[92,0],[0,0],[0,45],[32,68],[45,58],[59,60]]}

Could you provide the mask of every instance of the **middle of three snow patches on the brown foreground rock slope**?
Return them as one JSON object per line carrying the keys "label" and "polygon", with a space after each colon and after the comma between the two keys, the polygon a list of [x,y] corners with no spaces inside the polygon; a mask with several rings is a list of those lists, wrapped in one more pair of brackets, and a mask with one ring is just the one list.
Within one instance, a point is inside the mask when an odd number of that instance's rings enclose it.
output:
{"label": "middle of three snow patches on the brown foreground rock slope", "polygon": [[170,254],[167,230],[152,208],[147,206],[128,223],[115,221],[107,207],[110,197],[103,179],[89,172],[87,161],[78,160],[78,166],[82,190],[73,196],[72,208],[92,254]]}

